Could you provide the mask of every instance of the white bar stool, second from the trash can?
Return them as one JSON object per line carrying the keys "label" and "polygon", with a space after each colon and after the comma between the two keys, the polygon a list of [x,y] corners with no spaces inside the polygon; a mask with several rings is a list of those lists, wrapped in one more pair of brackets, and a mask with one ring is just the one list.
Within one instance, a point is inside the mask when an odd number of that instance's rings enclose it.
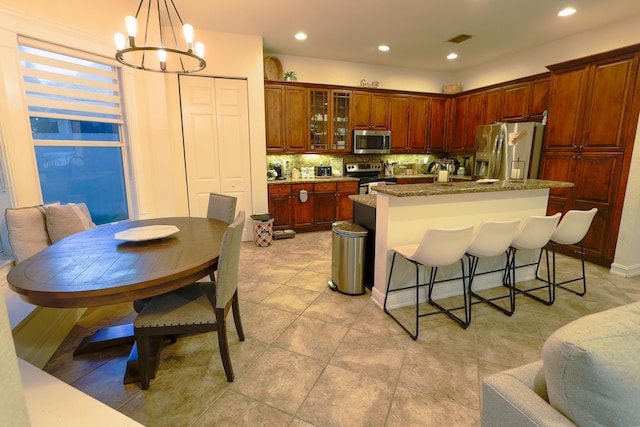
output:
{"label": "white bar stool, second from the trash can", "polygon": [[[469,260],[469,305],[471,305],[471,297],[478,299],[478,302],[484,302],[502,311],[507,316],[511,316],[516,307],[516,293],[513,286],[510,285],[509,276],[509,247],[513,242],[513,238],[520,224],[520,218],[511,221],[483,221],[471,240],[471,245],[467,249],[467,258]],[[484,298],[473,292],[473,279],[476,275],[478,261],[481,258],[493,258],[504,255],[505,269],[502,274],[502,285],[509,289],[507,295],[493,298]],[[497,270],[500,271],[500,270]],[[509,309],[501,307],[493,301],[509,298]],[[469,313],[469,322],[471,322],[471,313]]]}

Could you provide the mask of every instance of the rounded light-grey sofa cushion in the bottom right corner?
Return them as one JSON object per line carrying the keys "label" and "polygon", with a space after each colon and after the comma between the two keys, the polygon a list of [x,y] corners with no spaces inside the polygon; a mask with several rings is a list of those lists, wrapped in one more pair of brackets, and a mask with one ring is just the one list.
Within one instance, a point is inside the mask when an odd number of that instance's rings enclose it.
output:
{"label": "rounded light-grey sofa cushion in the bottom right corner", "polygon": [[640,303],[554,332],[542,359],[549,402],[582,426],[640,425]]}

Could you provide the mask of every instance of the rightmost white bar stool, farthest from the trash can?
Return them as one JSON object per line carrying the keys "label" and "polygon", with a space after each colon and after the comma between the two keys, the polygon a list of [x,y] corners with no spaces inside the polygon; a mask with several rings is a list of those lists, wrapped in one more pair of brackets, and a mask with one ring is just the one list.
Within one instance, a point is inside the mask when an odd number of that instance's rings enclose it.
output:
{"label": "rightmost white bar stool, farthest from the trash can", "polygon": [[[598,213],[597,208],[592,208],[588,211],[570,210],[562,217],[560,224],[556,227],[555,231],[551,235],[551,250],[552,250],[552,270],[553,270],[553,285],[565,289],[569,292],[573,292],[576,295],[583,296],[587,293],[587,278],[584,271],[584,245],[582,240],[586,236],[593,218]],[[556,281],[556,245],[575,245],[580,243],[580,261],[582,262],[582,276],[575,279],[565,280],[558,283]],[[546,248],[545,248],[546,250]],[[540,252],[540,258],[538,258],[538,268],[536,268],[536,277],[538,277],[538,269],[540,268],[540,259],[542,258],[542,252]],[[547,269],[548,269],[548,255],[547,255]],[[539,277],[538,277],[539,278]],[[539,280],[544,280],[540,279]],[[582,280],[582,290],[575,291],[566,286],[567,283],[577,282]]]}

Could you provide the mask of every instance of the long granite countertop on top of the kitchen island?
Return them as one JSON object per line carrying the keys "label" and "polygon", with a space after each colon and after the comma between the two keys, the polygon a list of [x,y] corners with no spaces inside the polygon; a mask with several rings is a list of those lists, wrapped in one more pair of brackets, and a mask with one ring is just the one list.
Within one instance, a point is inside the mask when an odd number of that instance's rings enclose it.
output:
{"label": "long granite countertop on top of the kitchen island", "polygon": [[539,190],[543,188],[573,187],[572,182],[527,179],[525,181],[477,181],[452,182],[447,184],[399,184],[377,186],[378,193],[395,197],[440,196],[444,194],[489,193],[493,191]]}

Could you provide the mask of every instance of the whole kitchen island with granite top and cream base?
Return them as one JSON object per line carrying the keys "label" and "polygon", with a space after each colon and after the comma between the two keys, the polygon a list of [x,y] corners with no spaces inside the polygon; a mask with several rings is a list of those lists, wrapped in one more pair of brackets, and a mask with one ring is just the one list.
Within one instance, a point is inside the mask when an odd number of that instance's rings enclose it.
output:
{"label": "whole kitchen island with granite top and cream base", "polygon": [[[427,228],[479,225],[484,220],[525,219],[531,215],[546,215],[549,190],[572,187],[573,183],[529,179],[524,181],[478,181],[447,184],[402,184],[378,186],[373,196],[351,196],[355,204],[375,209],[375,266],[373,270],[373,300],[382,307],[391,265],[391,248],[419,243]],[[359,218],[354,216],[354,222]],[[519,251],[518,265],[537,260],[537,253]],[[504,259],[482,260],[478,273],[501,268]],[[460,275],[459,265],[441,269],[442,278]],[[522,269],[518,278],[532,279],[534,268]],[[411,285],[413,269],[394,272],[392,286]],[[440,277],[440,276],[439,276]],[[488,289],[502,284],[500,272],[482,274],[474,281],[474,289]],[[434,298],[460,294],[460,283],[451,280],[434,288]],[[412,291],[396,292],[389,297],[390,308],[414,303]]]}

